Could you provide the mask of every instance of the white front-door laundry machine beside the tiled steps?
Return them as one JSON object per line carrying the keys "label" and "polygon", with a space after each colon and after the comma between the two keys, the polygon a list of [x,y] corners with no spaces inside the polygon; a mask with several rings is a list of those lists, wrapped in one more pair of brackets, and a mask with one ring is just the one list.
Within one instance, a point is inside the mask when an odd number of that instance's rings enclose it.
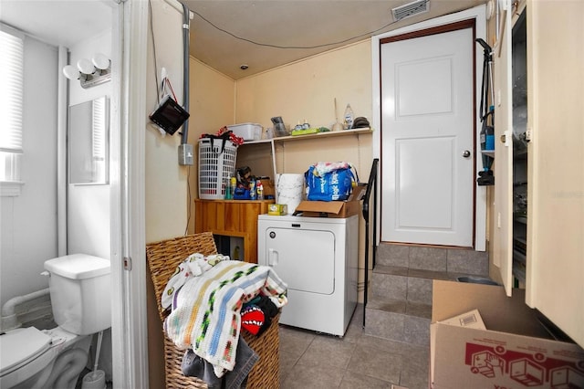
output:
{"label": "white front-door laundry machine beside the tiled steps", "polygon": [[359,218],[258,216],[257,259],[287,282],[280,323],[344,336],[357,306]]}

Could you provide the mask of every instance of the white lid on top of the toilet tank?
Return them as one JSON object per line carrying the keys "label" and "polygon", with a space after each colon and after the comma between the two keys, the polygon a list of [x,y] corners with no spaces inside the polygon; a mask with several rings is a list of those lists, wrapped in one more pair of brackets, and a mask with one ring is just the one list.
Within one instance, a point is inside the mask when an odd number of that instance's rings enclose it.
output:
{"label": "white lid on top of the toilet tank", "polygon": [[45,261],[45,269],[67,279],[90,279],[110,274],[110,260],[71,254]]}

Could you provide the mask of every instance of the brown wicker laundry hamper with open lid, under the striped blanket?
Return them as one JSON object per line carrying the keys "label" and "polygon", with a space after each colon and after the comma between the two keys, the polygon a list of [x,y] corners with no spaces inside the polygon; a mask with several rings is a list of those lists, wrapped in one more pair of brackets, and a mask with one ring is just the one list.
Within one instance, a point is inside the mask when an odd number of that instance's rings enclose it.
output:
{"label": "brown wicker laundry hamper with open lid, under the striped blanket", "polygon": [[[167,314],[162,310],[161,296],[168,280],[171,279],[176,267],[193,253],[211,255],[217,252],[213,234],[203,232],[186,237],[176,237],[146,245],[146,257],[151,270],[151,279],[156,292],[156,302],[161,321]],[[259,360],[249,373],[247,387],[250,389],[276,389],[279,387],[279,314],[272,320],[270,327],[259,337],[241,331],[245,342],[257,352]],[[162,323],[161,323],[162,329]],[[166,388],[206,388],[207,385],[198,378],[183,375],[181,363],[184,350],[179,350],[174,343],[164,335],[164,370],[166,372]]]}

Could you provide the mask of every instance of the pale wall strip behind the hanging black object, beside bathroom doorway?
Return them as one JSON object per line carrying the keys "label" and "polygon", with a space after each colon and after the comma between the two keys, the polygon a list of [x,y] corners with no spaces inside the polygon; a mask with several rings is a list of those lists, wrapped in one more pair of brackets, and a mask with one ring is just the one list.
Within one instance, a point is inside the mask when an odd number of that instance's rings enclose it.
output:
{"label": "pale wall strip behind the hanging black object, beside bathroom doorway", "polygon": [[[167,71],[177,100],[183,103],[183,16],[162,0],[152,1],[151,7],[156,58],[149,46],[148,113],[158,106],[157,82],[162,82],[162,68]],[[162,134],[151,121],[147,121],[145,131],[145,235],[146,243],[150,243],[183,235],[187,219],[183,206],[186,168],[177,163],[181,142],[178,132],[172,136]]]}

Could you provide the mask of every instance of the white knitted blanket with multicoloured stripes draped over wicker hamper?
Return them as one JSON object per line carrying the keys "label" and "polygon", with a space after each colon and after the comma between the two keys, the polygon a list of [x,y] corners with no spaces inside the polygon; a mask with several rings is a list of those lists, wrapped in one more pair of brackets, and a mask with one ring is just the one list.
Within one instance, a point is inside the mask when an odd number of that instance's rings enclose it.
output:
{"label": "white knitted blanket with multicoloured stripes draped over wicker hamper", "polygon": [[164,331],[177,347],[193,349],[212,363],[214,373],[222,377],[235,366],[242,304],[259,293],[268,296],[278,308],[287,303],[287,285],[271,268],[221,261],[174,291],[172,312],[164,321]]}

